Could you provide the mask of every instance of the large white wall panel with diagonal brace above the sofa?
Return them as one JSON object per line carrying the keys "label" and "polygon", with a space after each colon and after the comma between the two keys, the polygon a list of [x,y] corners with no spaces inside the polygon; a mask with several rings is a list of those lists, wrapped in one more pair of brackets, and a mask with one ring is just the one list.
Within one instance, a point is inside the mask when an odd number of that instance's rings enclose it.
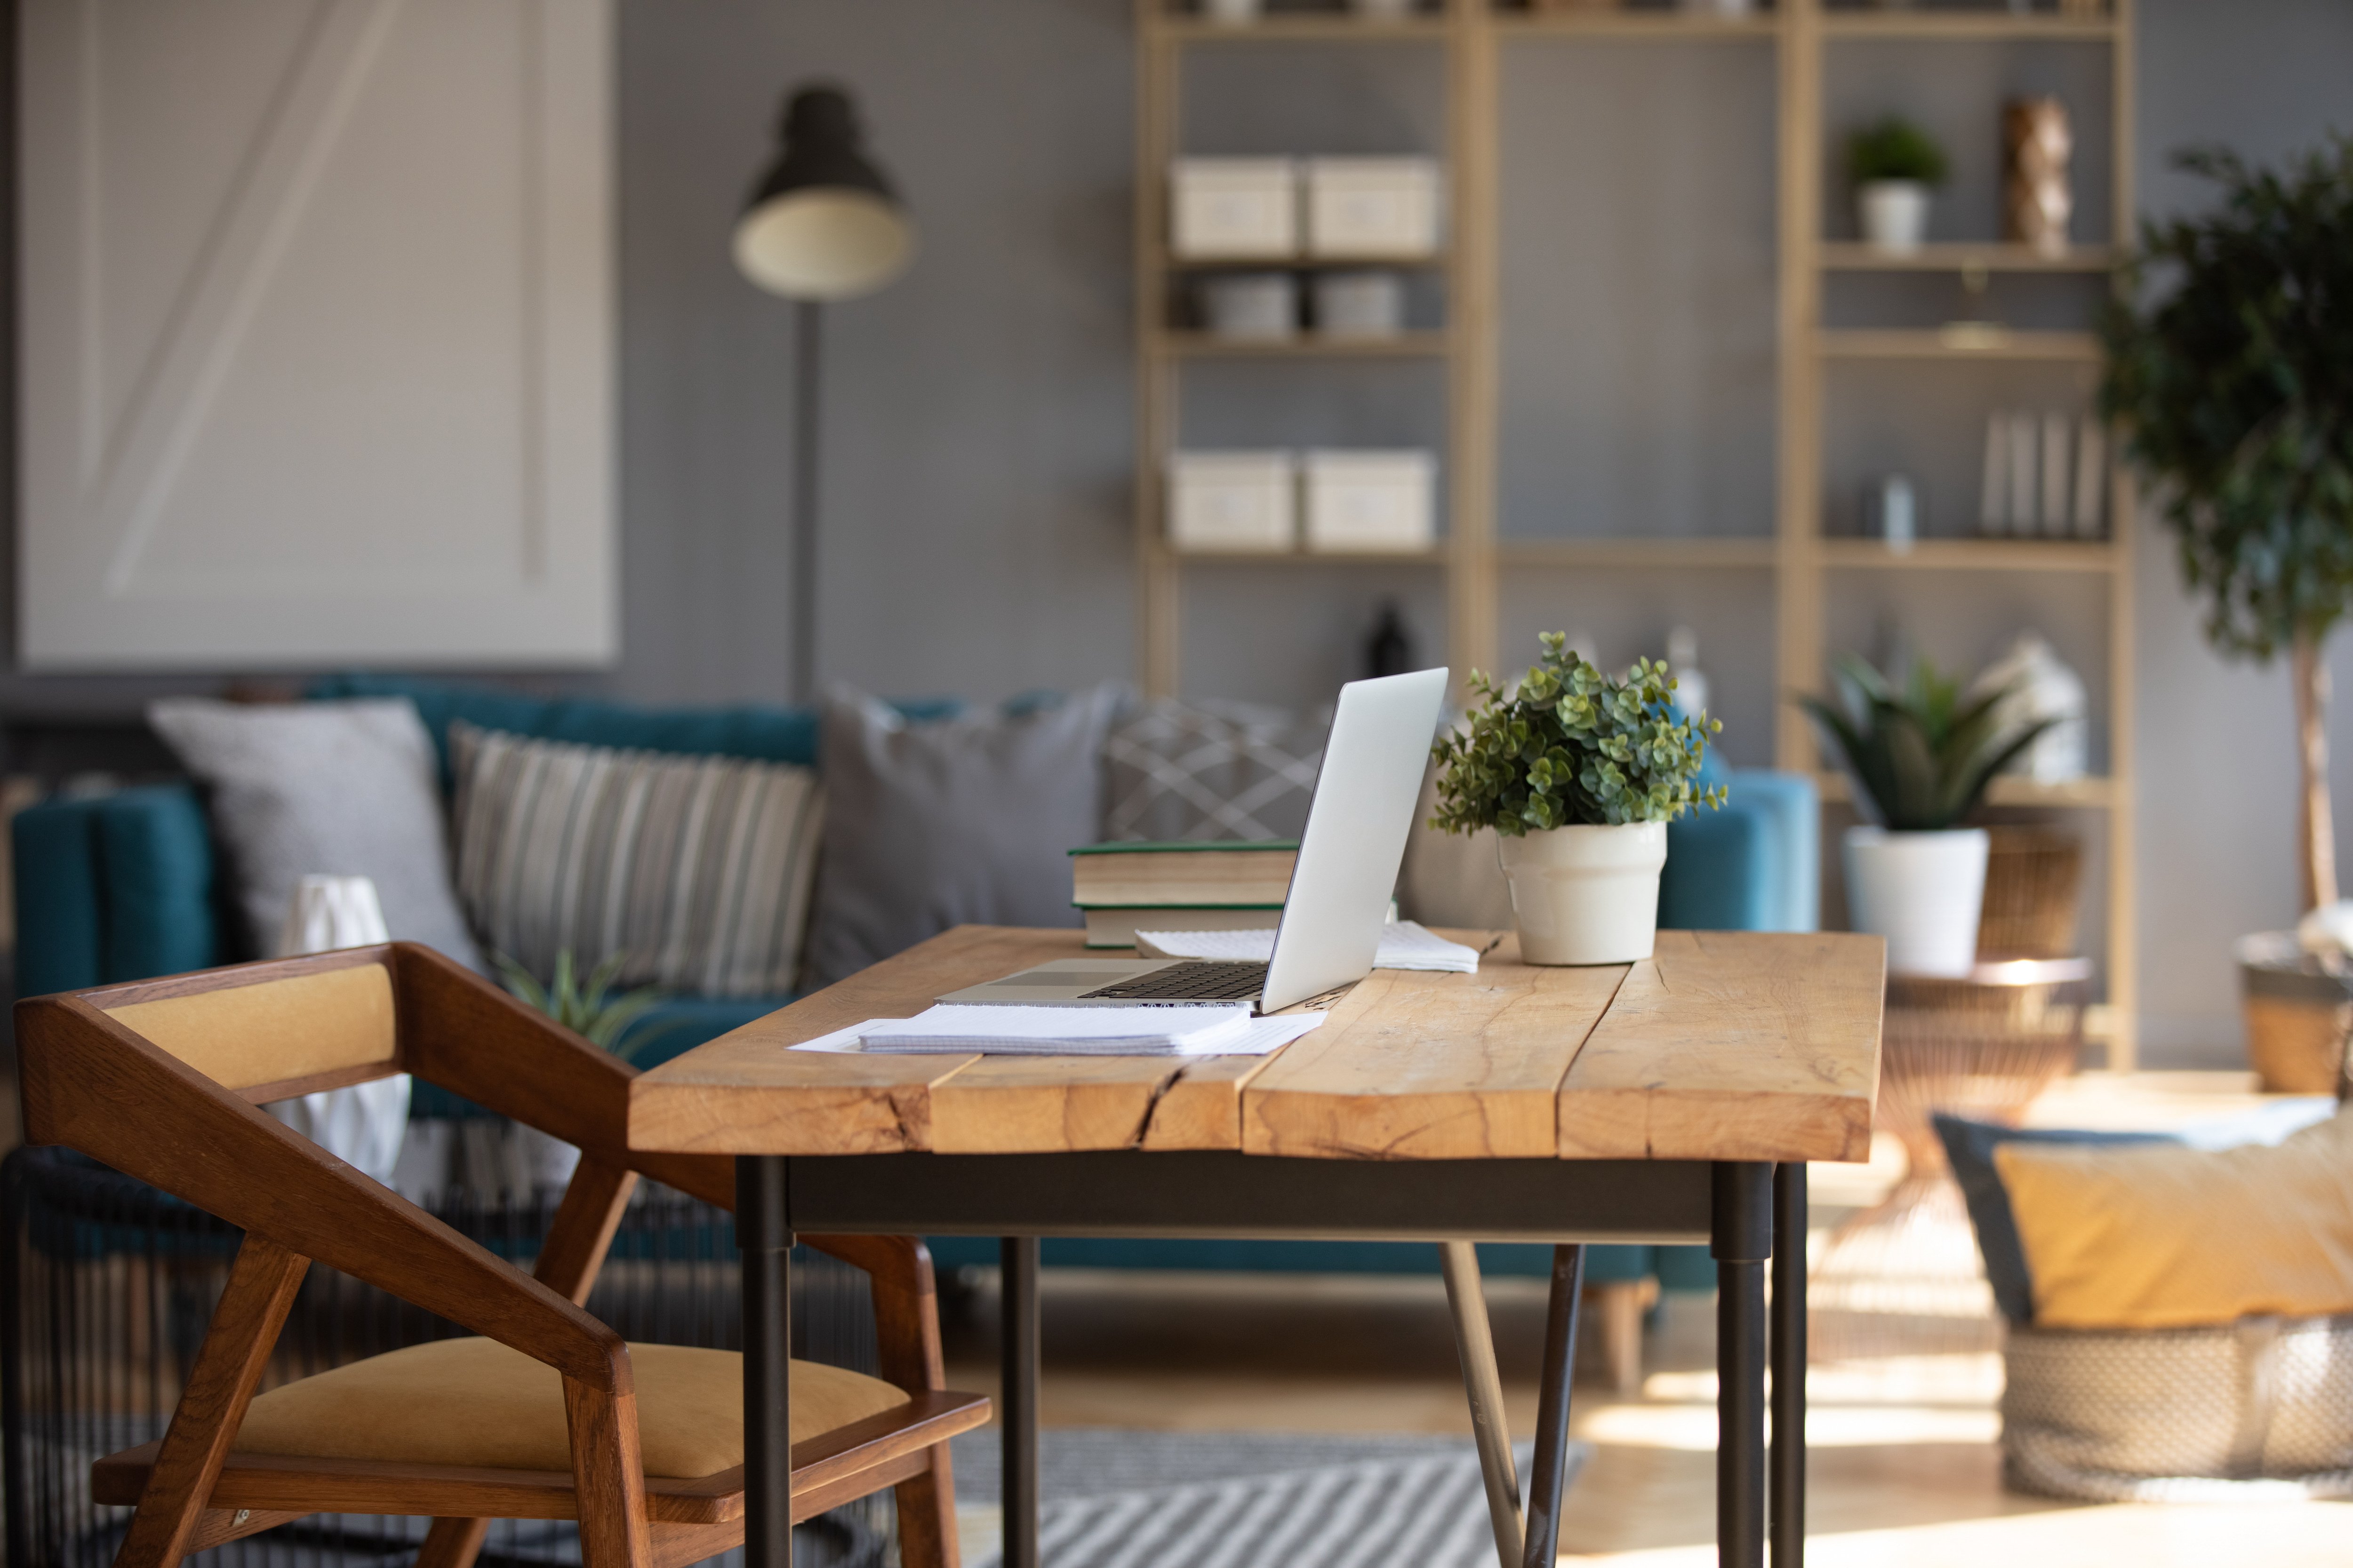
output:
{"label": "large white wall panel with diagonal brace above the sofa", "polygon": [[612,663],[609,0],[21,26],[24,663]]}

